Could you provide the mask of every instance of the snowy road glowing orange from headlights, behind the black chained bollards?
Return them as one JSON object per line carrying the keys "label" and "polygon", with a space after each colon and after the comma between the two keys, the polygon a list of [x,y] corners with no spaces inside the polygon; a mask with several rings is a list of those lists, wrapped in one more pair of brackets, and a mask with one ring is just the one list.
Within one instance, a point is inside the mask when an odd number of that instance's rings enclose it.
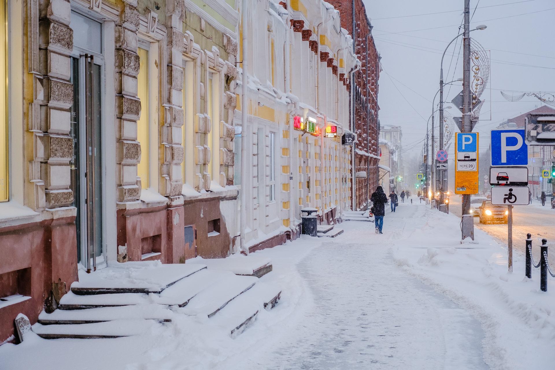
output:
{"label": "snowy road glowing orange from headlights, behind the black chained bollards", "polygon": [[[461,197],[452,195],[449,211],[461,216]],[[480,224],[478,217],[474,217],[474,225],[497,240],[507,245],[507,224]],[[542,206],[541,202],[532,200],[527,206],[513,207],[513,248],[524,253],[526,234],[532,234],[532,250],[534,259],[539,259],[539,245],[541,239],[547,239],[548,245],[555,246],[555,209],[551,209],[549,202]],[[549,256],[549,262],[555,263],[555,249]]]}

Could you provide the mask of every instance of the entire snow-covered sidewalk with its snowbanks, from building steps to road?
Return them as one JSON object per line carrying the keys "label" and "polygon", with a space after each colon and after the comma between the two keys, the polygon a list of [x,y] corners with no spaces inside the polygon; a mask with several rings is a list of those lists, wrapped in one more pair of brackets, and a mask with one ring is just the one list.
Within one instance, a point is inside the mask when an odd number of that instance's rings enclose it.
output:
{"label": "entire snow-covered sidewalk with its snowbanks, from building steps to road", "polygon": [[0,367],[555,368],[555,294],[539,291],[538,270],[524,278],[521,255],[508,274],[506,250],[484,232],[461,245],[459,222],[405,202],[386,213],[384,235],[347,221],[334,239],[302,236],[256,252],[272,261],[260,280],[281,286],[281,301],[235,339],[175,310],[140,336],[4,344]]}

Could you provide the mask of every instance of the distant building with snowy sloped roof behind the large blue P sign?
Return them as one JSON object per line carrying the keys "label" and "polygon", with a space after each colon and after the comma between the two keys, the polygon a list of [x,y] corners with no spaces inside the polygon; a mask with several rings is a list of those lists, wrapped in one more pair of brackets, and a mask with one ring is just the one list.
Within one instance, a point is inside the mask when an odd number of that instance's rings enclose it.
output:
{"label": "distant building with snowy sloped roof behind the large blue P sign", "polygon": [[[524,128],[524,118],[531,113],[553,113],[555,109],[542,105],[537,109],[528,111],[524,114],[509,118],[497,126],[498,129]],[[529,146],[528,147],[528,186],[535,198],[542,194],[542,191],[552,190],[552,185],[542,178],[542,170],[551,170],[551,165],[555,162],[555,146]]]}

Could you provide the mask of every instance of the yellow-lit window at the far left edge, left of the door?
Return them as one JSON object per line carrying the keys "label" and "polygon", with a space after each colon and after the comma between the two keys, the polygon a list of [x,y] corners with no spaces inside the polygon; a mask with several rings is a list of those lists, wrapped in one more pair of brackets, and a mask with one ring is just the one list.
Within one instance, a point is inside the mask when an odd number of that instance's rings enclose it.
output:
{"label": "yellow-lit window at the far left edge, left of the door", "polygon": [[8,105],[6,0],[0,1],[0,201],[8,200]]}

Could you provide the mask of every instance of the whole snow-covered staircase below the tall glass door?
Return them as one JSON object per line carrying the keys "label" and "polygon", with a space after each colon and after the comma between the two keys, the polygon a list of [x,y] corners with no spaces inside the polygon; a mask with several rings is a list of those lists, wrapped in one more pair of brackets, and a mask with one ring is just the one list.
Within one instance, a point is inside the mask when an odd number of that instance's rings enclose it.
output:
{"label": "whole snow-covered staircase below the tall glass door", "polygon": [[[117,338],[148,334],[176,315],[188,315],[204,316],[207,325],[224,327],[235,337],[256,320],[260,308],[271,310],[280,299],[279,287],[259,279],[271,271],[267,259],[194,260],[125,262],[89,274],[79,271],[79,281],[58,309],[43,311],[32,330],[46,339]],[[243,273],[226,270],[229,266]]]}

